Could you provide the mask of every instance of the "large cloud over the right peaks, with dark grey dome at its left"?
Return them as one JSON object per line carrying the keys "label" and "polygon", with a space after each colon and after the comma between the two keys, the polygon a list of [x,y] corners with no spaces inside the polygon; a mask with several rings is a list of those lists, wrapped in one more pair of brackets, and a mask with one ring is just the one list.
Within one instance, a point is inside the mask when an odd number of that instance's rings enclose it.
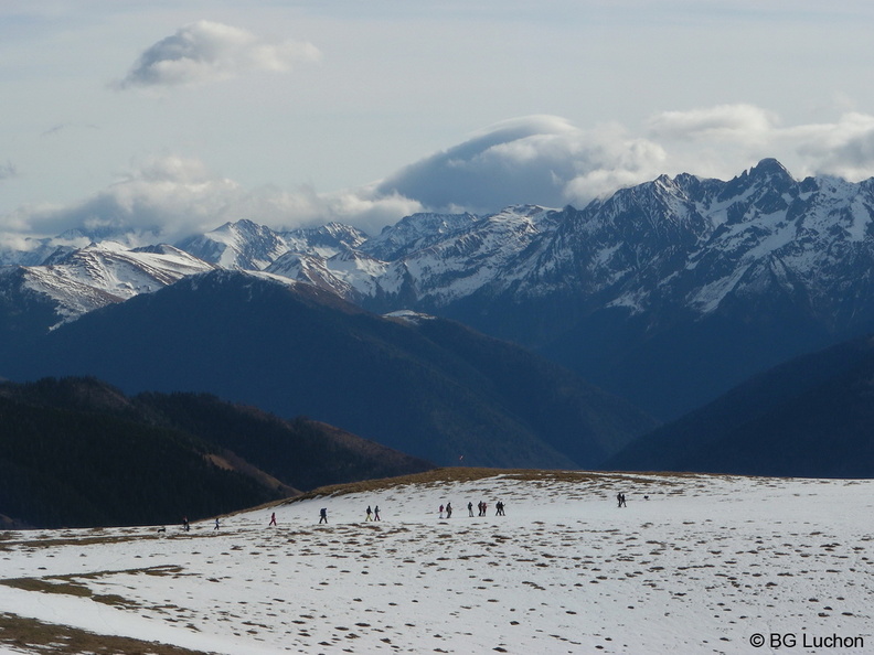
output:
{"label": "large cloud over the right peaks, with dark grey dome at its left", "polygon": [[584,206],[593,198],[688,172],[728,180],[766,157],[797,178],[874,176],[874,116],[785,126],[767,109],[718,105],[651,116],[641,135],[617,124],[582,130],[563,118],[505,121],[390,175],[375,192],[429,210],[497,211],[510,204]]}

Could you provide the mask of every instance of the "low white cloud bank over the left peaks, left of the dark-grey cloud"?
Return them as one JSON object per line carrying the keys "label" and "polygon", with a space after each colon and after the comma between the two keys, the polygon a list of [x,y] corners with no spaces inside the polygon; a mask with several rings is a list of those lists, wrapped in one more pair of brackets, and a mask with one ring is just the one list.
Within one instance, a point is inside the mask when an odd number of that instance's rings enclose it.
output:
{"label": "low white cloud bank over the left peaks, left of the dark-grey cloud", "polygon": [[319,194],[312,189],[244,189],[201,161],[178,155],[138,162],[109,187],[65,206],[29,205],[0,216],[0,234],[53,237],[71,229],[131,246],[175,243],[228,221],[251,218],[276,229],[354,224],[375,234],[420,211],[419,203],[372,189]]}

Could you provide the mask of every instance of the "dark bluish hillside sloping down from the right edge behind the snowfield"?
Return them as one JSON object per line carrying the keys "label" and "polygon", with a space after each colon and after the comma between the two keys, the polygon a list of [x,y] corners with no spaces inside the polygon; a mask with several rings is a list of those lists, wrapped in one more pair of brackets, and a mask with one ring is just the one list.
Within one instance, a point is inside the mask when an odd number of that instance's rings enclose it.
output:
{"label": "dark bluish hillside sloping down from the right edge behind the snowfield", "polygon": [[874,476],[874,337],[799,357],[630,444],[605,468]]}

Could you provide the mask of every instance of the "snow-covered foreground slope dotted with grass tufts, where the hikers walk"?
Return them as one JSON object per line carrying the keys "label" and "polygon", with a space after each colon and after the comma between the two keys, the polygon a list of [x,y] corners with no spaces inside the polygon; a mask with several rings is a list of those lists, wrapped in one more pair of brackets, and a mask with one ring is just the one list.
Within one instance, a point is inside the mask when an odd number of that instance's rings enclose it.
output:
{"label": "snow-covered foreground slope dotted with grass tufts, where the hikers walk", "polygon": [[[223,517],[217,530],[6,533],[0,612],[246,655],[874,644],[872,481],[456,473]],[[364,522],[369,505],[381,522]],[[840,648],[802,646],[835,636]],[[45,652],[13,637],[0,631],[7,652]]]}

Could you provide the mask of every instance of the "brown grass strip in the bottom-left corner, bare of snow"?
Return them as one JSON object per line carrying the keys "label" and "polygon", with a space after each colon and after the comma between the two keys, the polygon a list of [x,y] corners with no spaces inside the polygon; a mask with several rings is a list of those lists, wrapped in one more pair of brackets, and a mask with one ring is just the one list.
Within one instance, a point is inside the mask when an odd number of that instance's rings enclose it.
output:
{"label": "brown grass strip in the bottom-left corner, bare of snow", "polygon": [[206,655],[202,651],[190,651],[179,646],[129,637],[99,635],[8,613],[0,613],[0,644],[61,655],[85,653],[97,655]]}

